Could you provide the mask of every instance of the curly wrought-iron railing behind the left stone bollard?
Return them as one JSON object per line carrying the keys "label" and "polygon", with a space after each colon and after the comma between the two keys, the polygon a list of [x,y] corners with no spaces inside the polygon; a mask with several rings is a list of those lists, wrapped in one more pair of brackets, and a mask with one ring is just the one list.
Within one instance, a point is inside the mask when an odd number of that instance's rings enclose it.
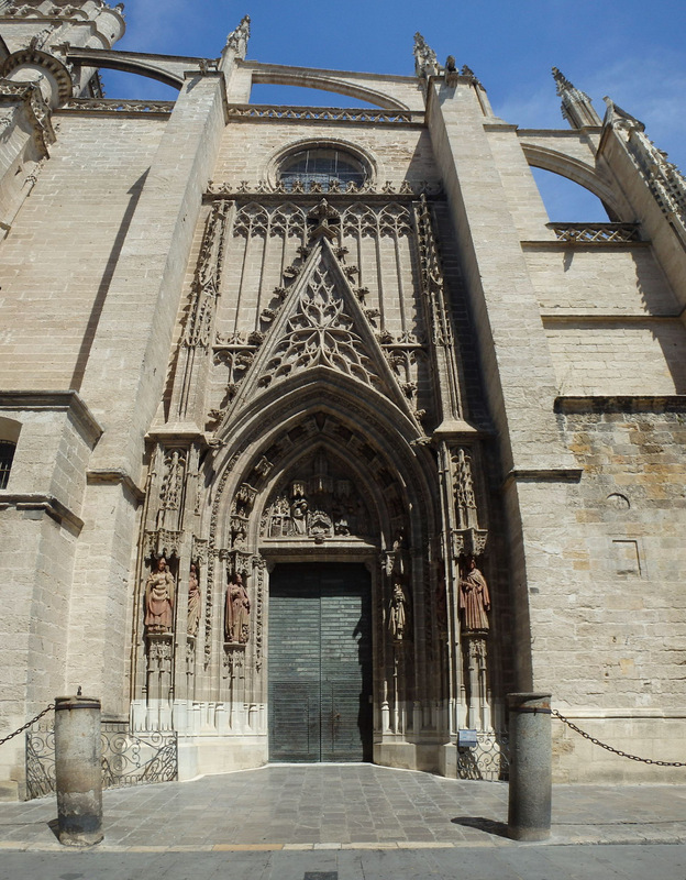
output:
{"label": "curly wrought-iron railing behind the left stone bollard", "polygon": [[[132,734],[126,722],[102,722],[102,787],[146,785],[178,779],[178,741],[174,730]],[[26,800],[55,791],[55,732],[36,725],[26,732]]]}

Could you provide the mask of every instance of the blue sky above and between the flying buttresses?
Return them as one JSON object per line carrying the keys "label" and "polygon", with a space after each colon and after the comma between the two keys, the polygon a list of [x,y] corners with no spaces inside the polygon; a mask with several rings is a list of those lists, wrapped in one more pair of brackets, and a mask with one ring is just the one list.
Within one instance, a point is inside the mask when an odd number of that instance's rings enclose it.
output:
{"label": "blue sky above and between the flying buttresses", "polygon": [[[306,67],[411,75],[412,36],[420,31],[439,61],[452,54],[472,67],[496,113],[521,128],[566,127],[550,74],[556,65],[590,95],[600,116],[609,95],[686,169],[685,0],[128,0],[126,34],[115,47],[217,57],[245,13],[248,58]],[[108,70],[103,79],[111,98],[174,97],[153,80]],[[259,87],[254,100],[346,102],[283,87]],[[554,219],[582,219],[562,217],[568,195],[556,208],[554,196],[547,198]]]}

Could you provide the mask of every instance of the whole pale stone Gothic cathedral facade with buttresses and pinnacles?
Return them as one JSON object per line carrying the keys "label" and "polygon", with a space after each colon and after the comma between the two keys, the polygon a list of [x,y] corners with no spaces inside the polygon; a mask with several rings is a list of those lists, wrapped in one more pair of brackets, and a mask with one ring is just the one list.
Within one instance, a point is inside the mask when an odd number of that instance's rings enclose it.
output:
{"label": "whole pale stone Gothic cathedral facade with buttresses and pinnacles", "polygon": [[[419,34],[389,76],[123,32],[0,3],[2,730],[81,686],[181,779],[497,779],[536,691],[685,760],[686,183],[643,124],[554,70],[568,128],[518,129]],[[611,220],[551,223],[531,166]],[[664,779],[553,736],[560,781]]]}

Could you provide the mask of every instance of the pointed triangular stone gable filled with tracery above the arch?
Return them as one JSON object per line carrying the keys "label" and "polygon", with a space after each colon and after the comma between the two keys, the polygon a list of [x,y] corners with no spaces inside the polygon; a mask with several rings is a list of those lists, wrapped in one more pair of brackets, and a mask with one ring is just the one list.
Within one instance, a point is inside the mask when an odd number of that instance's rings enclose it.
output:
{"label": "pointed triangular stone gable filled with tracery above the arch", "polygon": [[419,428],[348,274],[351,267],[342,266],[329,241],[320,239],[286,294],[224,424],[263,389],[324,367],[383,394]]}

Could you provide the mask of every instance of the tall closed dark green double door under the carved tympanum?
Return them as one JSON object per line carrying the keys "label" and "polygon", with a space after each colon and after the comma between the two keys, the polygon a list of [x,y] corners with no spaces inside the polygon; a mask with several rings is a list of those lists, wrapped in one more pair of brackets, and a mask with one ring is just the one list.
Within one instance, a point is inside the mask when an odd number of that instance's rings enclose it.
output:
{"label": "tall closed dark green double door under the carved tympanum", "polygon": [[372,760],[372,603],[364,565],[287,564],[272,574],[269,759]]}

